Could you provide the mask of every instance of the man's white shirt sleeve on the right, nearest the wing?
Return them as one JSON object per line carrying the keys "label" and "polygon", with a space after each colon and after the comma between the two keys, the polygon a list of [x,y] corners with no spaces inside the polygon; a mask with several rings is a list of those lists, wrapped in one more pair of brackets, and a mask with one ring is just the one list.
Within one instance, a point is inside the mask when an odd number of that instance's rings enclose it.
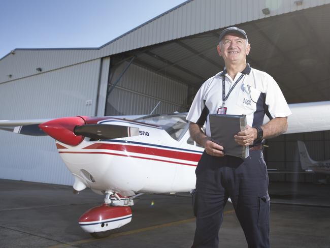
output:
{"label": "man's white shirt sleeve on the right, nearest the wing", "polygon": [[272,118],[286,117],[292,114],[280,87],[274,78],[269,75],[266,92],[266,105],[268,106],[268,111]]}

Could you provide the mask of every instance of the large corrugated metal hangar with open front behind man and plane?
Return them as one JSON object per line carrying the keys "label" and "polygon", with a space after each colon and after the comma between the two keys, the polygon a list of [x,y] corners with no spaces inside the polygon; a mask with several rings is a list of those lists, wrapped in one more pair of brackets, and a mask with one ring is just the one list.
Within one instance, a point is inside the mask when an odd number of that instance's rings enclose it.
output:
{"label": "large corrugated metal hangar with open front behind man and plane", "polygon": [[[99,48],[15,49],[0,59],[0,119],[185,112],[222,70],[215,48],[232,25],[247,32],[248,63],[272,75],[288,103],[327,101],[329,12],[329,0],[189,0]],[[0,138],[0,178],[73,183],[49,138]],[[296,140],[314,160],[330,158],[329,131],[281,135],[268,141],[269,168],[301,169]]]}

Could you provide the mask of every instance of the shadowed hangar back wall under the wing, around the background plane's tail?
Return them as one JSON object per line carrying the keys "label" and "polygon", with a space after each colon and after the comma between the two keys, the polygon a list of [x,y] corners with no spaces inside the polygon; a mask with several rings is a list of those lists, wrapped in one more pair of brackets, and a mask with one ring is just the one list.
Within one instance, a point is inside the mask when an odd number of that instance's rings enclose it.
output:
{"label": "shadowed hangar back wall under the wing, around the background plane's tail", "polygon": [[[305,142],[313,160],[330,159],[330,131],[280,135],[267,141],[268,168],[301,171],[297,140]],[[317,182],[324,177],[322,174],[270,174],[272,181]]]}

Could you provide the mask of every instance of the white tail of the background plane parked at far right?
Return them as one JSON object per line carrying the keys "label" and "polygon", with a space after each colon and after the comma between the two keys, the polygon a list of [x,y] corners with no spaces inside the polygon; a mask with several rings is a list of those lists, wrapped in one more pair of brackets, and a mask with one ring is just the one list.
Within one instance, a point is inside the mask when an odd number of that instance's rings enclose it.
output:
{"label": "white tail of the background plane parked at far right", "polygon": [[309,157],[306,145],[303,141],[298,142],[299,157],[303,170],[312,170],[315,173],[330,175],[330,160],[314,161]]}

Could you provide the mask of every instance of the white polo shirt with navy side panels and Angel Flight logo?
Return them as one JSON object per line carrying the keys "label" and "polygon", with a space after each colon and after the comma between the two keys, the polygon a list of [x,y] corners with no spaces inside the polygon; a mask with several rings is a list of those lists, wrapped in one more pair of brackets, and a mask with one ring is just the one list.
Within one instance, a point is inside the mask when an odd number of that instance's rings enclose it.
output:
{"label": "white polo shirt with navy side panels and Angel Flight logo", "polygon": [[247,64],[242,73],[233,80],[226,70],[203,83],[197,92],[187,120],[203,126],[206,121],[206,135],[211,136],[209,114],[216,114],[222,106],[222,77],[224,76],[225,95],[241,77],[224,102],[226,114],[245,114],[250,127],[262,125],[265,114],[270,119],[291,114],[282,91],[276,81],[266,72],[253,69]]}

